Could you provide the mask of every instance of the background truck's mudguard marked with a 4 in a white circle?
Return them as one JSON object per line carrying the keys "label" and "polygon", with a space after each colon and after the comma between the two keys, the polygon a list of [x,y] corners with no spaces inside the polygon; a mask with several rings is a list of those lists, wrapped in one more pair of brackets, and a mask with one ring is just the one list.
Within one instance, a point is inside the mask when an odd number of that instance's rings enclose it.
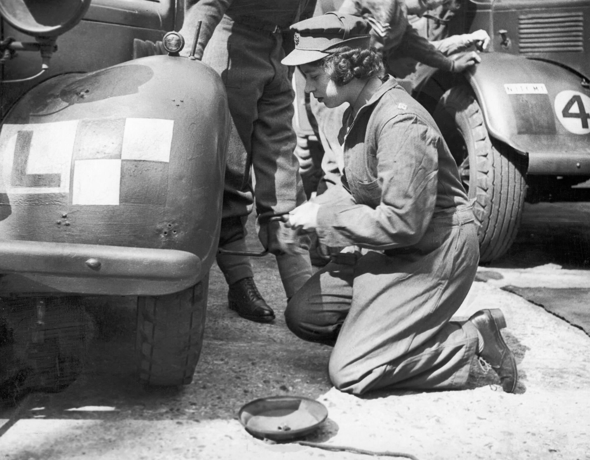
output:
{"label": "background truck's mudguard marked with a 4 in a white circle", "polygon": [[590,90],[572,71],[507,53],[466,72],[487,131],[526,154],[528,174],[590,174]]}

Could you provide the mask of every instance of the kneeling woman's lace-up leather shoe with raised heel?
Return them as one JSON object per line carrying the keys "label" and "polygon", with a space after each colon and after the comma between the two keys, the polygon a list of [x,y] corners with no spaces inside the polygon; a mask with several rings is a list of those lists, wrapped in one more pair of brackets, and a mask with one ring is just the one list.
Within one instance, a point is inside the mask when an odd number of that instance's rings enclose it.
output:
{"label": "kneeling woman's lace-up leather shoe with raised heel", "polygon": [[506,319],[500,309],[480,310],[469,321],[483,337],[483,347],[478,356],[490,364],[500,377],[502,388],[506,393],[514,393],[518,383],[518,370],[514,354],[504,342],[500,329],[506,327]]}

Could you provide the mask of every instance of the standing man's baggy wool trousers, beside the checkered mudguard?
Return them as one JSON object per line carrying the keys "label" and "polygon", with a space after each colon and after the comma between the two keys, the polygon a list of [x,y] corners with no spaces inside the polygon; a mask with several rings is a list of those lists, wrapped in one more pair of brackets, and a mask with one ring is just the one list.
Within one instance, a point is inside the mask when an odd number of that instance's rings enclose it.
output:
{"label": "standing man's baggy wool trousers, beside the checkered mudguard", "polygon": [[[245,249],[244,223],[254,203],[264,222],[265,217],[288,213],[306,200],[299,162],[293,155],[294,94],[289,69],[280,63],[283,57],[280,31],[257,29],[227,16],[215,28],[203,54],[204,63],[214,68],[225,84],[235,128],[225,169],[219,237],[219,246],[224,249]],[[248,257],[218,256],[217,261],[230,284],[252,276]],[[287,296],[311,275],[307,256],[278,256],[277,263],[281,274],[293,271],[293,264],[299,267],[300,276],[290,273],[289,280],[281,278]]]}

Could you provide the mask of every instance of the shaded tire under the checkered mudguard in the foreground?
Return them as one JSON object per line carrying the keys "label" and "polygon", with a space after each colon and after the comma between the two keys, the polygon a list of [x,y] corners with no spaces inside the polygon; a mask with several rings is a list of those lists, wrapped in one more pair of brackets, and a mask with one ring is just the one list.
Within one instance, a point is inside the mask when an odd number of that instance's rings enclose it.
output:
{"label": "shaded tire under the checkered mudguard in the foreground", "polygon": [[139,381],[158,386],[191,383],[205,330],[209,275],[192,288],[137,298]]}

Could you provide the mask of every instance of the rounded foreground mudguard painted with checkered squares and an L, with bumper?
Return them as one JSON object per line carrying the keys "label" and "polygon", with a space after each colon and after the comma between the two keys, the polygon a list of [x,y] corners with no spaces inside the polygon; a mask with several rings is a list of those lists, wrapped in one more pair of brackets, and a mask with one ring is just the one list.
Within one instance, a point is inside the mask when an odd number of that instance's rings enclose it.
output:
{"label": "rounded foreground mudguard painted with checkered squares and an L, with bumper", "polygon": [[21,269],[37,291],[153,295],[198,282],[217,250],[230,126],[221,78],[184,57],[34,87],[0,131],[0,239],[14,249],[0,251],[0,273]]}

